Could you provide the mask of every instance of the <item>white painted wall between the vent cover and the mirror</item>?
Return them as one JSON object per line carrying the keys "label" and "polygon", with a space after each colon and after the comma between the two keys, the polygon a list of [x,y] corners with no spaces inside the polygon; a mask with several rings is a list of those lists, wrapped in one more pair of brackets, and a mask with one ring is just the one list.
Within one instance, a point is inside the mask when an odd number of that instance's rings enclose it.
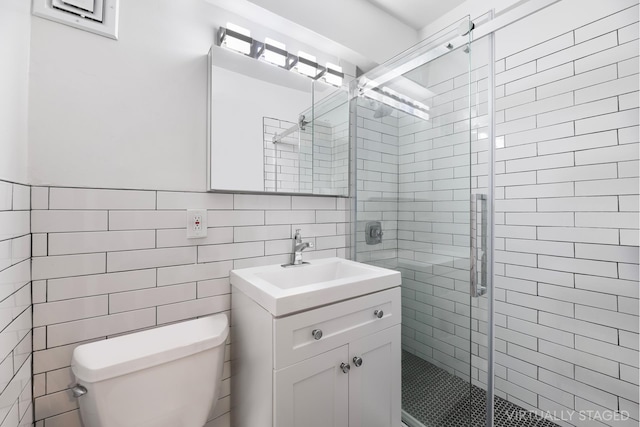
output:
{"label": "white painted wall between the vent cover and the mirror", "polygon": [[34,17],[32,183],[204,190],[215,11],[121,2],[118,41]]}

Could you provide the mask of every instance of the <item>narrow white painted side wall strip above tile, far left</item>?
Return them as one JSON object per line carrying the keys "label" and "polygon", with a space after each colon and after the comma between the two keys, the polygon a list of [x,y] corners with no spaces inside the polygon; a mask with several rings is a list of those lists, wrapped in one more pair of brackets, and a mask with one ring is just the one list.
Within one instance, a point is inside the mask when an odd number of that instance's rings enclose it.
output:
{"label": "narrow white painted side wall strip above tile, far left", "polygon": [[27,182],[30,2],[0,2],[0,179]]}

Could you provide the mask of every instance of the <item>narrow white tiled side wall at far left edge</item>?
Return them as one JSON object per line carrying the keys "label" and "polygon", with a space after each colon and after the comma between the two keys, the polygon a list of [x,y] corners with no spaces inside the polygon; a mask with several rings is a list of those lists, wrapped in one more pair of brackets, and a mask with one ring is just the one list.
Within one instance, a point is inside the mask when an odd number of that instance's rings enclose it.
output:
{"label": "narrow white tiled side wall at far left edge", "polygon": [[0,420],[33,423],[29,186],[0,181]]}

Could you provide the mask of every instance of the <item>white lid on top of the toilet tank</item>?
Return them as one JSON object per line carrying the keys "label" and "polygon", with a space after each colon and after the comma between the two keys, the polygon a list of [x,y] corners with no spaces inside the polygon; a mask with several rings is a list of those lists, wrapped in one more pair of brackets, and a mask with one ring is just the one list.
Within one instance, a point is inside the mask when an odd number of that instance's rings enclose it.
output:
{"label": "white lid on top of the toilet tank", "polygon": [[103,381],[217,347],[228,334],[226,314],[161,326],[80,345],[71,370],[79,380]]}

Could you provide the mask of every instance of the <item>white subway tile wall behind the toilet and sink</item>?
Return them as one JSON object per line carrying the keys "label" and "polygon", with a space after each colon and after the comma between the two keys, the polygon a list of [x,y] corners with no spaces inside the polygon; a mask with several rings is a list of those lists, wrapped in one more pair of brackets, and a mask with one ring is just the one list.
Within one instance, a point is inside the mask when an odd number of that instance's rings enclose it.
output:
{"label": "white subway tile wall behind the toilet and sink", "polygon": [[[14,198],[20,199],[21,187],[14,187]],[[349,216],[343,198],[33,187],[37,279],[32,389],[29,251],[20,240],[27,236],[29,243],[29,206],[12,211],[11,188],[0,182],[0,234],[7,233],[0,239],[0,264],[9,262],[2,256],[4,242],[13,244],[24,259],[6,269],[0,265],[0,297],[5,298],[0,312],[6,311],[5,302],[26,306],[12,309],[15,320],[0,333],[0,339],[11,340],[2,348],[16,349],[3,356],[8,364],[0,364],[0,370],[15,371],[13,379],[8,371],[1,376],[15,383],[2,401],[8,402],[6,411],[15,413],[12,417],[26,411],[30,425],[33,390],[37,427],[80,427],[76,400],[68,389],[73,385],[71,353],[77,345],[229,313],[229,271],[288,262],[298,228],[303,240],[316,245],[305,251],[305,258],[347,256]],[[186,238],[187,209],[208,210],[206,238]],[[207,427],[230,426],[230,346],[222,393]],[[26,353],[20,352],[23,348]]]}

